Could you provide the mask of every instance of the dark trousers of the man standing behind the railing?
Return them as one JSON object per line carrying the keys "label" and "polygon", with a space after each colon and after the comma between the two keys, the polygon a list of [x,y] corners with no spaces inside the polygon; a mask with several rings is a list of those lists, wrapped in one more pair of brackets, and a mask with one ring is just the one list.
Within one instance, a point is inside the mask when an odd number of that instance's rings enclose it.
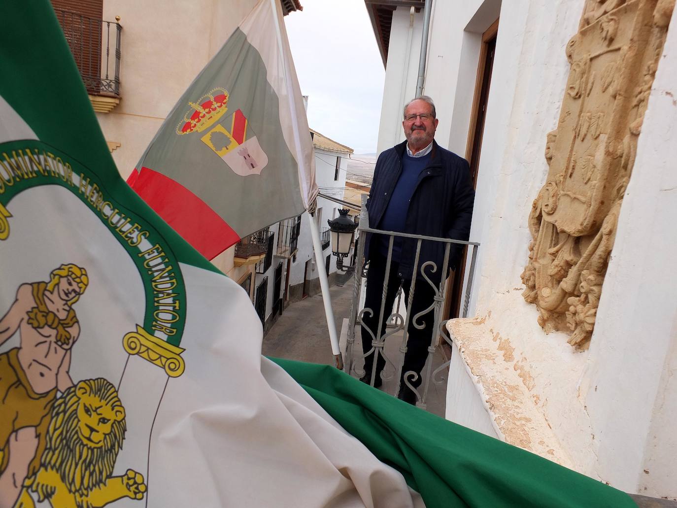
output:
{"label": "dark trousers of the man standing behind the railing", "polygon": [[[367,272],[367,294],[364,301],[364,307],[370,308],[373,311],[373,314],[370,315],[369,312],[365,312],[362,321],[376,337],[378,332],[378,316],[380,315],[381,302],[383,301],[383,291],[385,288],[385,267],[386,267],[386,258],[377,249],[373,249],[374,252],[370,256],[369,261],[369,270]],[[390,275],[388,278],[388,286],[385,288],[386,295],[385,305],[383,311],[383,320],[381,322],[380,337],[386,333],[386,322],[393,312],[393,303],[395,303],[395,297],[397,296],[397,290],[399,287],[402,287],[405,299],[405,305],[409,303],[409,292],[411,289],[411,275],[412,274],[402,274],[399,275],[399,263],[391,261],[390,265]],[[403,278],[406,276],[406,278]],[[431,339],[433,337],[433,326],[435,326],[435,309],[431,309],[426,314],[423,314],[416,320],[416,323],[420,326],[423,324],[423,329],[417,329],[414,326],[414,316],[429,308],[434,301],[435,290],[431,287],[430,284],[424,279],[419,278],[416,280],[416,285],[414,287],[414,299],[412,301],[412,308],[407,308],[407,314],[409,317],[409,326],[407,328],[407,352],[404,355],[404,364],[402,366],[402,373],[400,376],[400,387],[404,388],[406,385],[402,381],[403,376],[408,371],[414,371],[418,374],[416,381],[412,379],[412,376],[409,376],[407,380],[414,387],[418,387],[421,383],[420,372],[423,370],[425,362],[428,358],[428,347],[431,344]],[[362,350],[366,354],[372,348],[372,336],[365,329],[365,326],[362,326]],[[379,337],[379,338],[380,338]],[[396,340],[396,339],[391,339]],[[376,360],[376,376],[380,375],[380,372],[383,371],[385,366],[385,359],[383,355],[378,354],[378,359]],[[364,369],[366,370],[367,376],[371,379],[372,368],[374,365],[374,353],[369,354],[364,359]],[[397,367],[397,363],[395,362]]]}

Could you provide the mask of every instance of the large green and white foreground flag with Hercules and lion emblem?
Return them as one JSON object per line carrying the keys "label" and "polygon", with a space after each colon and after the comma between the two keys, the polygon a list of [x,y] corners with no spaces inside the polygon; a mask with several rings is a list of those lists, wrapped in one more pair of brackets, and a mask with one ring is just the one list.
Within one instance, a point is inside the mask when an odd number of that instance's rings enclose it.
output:
{"label": "large green and white foreground flag with Hercules and lion emblem", "polygon": [[[248,295],[118,175],[48,1],[0,20],[1,506],[634,506],[331,366],[262,358]],[[213,125],[272,165],[238,110]]]}

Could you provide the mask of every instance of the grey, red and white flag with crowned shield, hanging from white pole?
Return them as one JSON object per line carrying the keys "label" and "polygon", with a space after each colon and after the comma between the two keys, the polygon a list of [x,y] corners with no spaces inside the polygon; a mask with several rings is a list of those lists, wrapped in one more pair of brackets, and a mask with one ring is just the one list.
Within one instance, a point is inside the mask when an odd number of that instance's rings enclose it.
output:
{"label": "grey, red and white flag with crowned shield, hanging from white pole", "polygon": [[305,211],[315,159],[275,0],[261,0],[167,116],[128,179],[207,259]]}

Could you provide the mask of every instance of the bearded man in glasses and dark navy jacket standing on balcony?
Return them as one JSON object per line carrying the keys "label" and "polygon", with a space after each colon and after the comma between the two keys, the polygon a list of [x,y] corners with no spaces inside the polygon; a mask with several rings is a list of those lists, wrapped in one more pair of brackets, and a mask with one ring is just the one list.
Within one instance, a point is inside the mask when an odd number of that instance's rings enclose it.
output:
{"label": "bearded man in glasses and dark navy jacket standing on balcony", "polygon": [[[371,228],[468,240],[475,200],[468,161],[441,148],[433,140],[438,122],[435,104],[427,96],[416,98],[405,106],[402,127],[407,141],[385,150],[376,161],[366,205]],[[416,394],[403,379],[406,373],[413,371],[416,376],[410,374],[406,379],[414,387],[420,385],[420,373],[435,332],[434,310],[415,319],[431,308],[435,298],[435,289],[422,277],[422,266],[426,261],[435,263],[437,270],[432,272],[429,266],[425,268],[425,275],[439,286],[439,282],[447,276],[447,267],[442,266],[445,243],[423,240],[418,263],[414,266],[417,240],[395,237],[390,247],[391,238],[388,235],[368,235],[364,246],[365,259],[369,261],[364,306],[372,313],[365,312],[362,318],[365,325],[362,326],[362,348],[366,355],[366,373],[361,381],[370,383],[374,371],[374,352],[368,354],[372,350],[370,331],[375,337],[380,328],[380,337],[383,337],[399,287],[402,287],[405,303],[408,303],[412,280],[416,280],[413,301],[408,308],[407,352],[398,394],[401,400],[415,404]],[[387,267],[389,251],[391,261]],[[455,268],[460,253],[462,247],[452,244],[448,268]],[[388,272],[386,268],[389,268]],[[384,293],[383,319],[379,323]],[[377,355],[374,386],[379,387],[385,359]]]}

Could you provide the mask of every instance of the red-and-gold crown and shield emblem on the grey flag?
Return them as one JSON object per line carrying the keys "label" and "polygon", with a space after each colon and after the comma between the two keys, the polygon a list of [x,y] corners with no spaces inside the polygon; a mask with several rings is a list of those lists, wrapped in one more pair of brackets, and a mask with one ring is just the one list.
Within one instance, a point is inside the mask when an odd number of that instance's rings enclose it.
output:
{"label": "red-and-gold crown and shield emblem on the grey flag", "polygon": [[227,103],[228,92],[223,88],[213,89],[198,102],[189,102],[193,113],[190,117],[188,113],[185,114],[176,132],[183,135],[206,131],[200,140],[221,157],[234,173],[240,176],[260,175],[268,164],[268,156],[242,110],[236,110],[225,117],[223,123],[217,123],[225,116]]}

